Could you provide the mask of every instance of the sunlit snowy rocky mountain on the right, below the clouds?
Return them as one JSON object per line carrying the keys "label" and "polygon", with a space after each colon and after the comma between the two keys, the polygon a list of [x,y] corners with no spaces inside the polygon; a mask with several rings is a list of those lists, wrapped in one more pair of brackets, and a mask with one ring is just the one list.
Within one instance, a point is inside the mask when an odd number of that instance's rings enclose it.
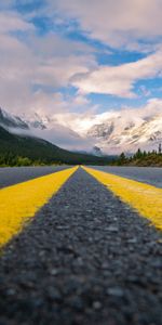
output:
{"label": "sunlit snowy rocky mountain on the right, below the clouds", "polygon": [[135,117],[125,114],[109,116],[93,125],[86,136],[94,139],[96,146],[110,153],[157,150],[162,142],[162,114]]}

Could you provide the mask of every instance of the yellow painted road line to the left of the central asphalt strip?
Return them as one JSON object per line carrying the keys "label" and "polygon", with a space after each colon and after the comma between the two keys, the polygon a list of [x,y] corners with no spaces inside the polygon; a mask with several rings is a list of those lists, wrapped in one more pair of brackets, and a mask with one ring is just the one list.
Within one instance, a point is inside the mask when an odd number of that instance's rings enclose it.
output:
{"label": "yellow painted road line to the left of the central asphalt strip", "polygon": [[48,203],[77,168],[0,190],[0,246],[22,231],[25,222]]}

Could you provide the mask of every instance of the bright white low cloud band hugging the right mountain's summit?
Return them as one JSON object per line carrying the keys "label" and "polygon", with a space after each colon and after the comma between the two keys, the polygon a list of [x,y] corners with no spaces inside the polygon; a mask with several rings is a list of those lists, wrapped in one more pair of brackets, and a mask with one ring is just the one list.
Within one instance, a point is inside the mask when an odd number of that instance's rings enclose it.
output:
{"label": "bright white low cloud band hugging the right mountain's summit", "polygon": [[130,121],[138,121],[139,123],[144,119],[150,117],[162,115],[162,100],[161,99],[151,99],[140,107],[131,107],[125,106],[119,109],[107,109],[105,113],[96,112],[85,112],[85,113],[76,113],[71,114],[69,112],[65,114],[56,114],[55,121],[62,126],[68,126],[69,129],[72,129],[75,132],[78,132],[80,135],[85,135],[89,129],[95,125],[104,123],[111,119],[120,118],[119,125],[121,128]]}

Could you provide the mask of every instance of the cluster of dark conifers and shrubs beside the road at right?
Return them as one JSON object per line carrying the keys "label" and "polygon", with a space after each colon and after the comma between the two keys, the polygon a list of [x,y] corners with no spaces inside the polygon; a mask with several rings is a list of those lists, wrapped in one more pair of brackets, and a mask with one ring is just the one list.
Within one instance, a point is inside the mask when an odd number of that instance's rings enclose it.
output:
{"label": "cluster of dark conifers and shrubs beside the road at right", "polygon": [[161,145],[159,146],[159,151],[152,152],[143,152],[140,148],[131,157],[126,157],[124,153],[122,153],[119,158],[114,161],[113,165],[117,166],[152,166],[152,167],[162,167],[162,153]]}

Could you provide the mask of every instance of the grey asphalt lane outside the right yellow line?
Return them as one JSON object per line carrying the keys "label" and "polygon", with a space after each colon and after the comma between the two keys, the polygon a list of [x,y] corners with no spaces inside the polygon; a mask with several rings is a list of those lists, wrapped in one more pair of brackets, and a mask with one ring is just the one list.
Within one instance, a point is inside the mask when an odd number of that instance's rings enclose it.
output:
{"label": "grey asphalt lane outside the right yellow line", "polygon": [[95,169],[162,187],[162,168],[97,166]]}

